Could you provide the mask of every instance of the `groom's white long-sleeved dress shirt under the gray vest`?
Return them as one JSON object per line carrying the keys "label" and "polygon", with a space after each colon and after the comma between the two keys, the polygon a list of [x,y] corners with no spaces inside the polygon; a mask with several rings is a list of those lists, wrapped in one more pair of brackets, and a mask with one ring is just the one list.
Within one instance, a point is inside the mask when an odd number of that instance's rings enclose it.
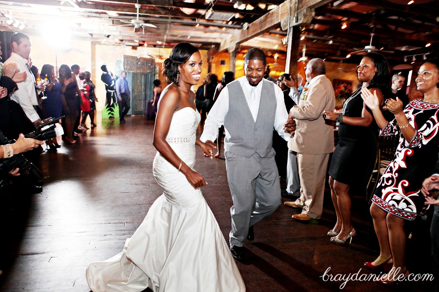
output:
{"label": "groom's white long-sleeved dress shirt under the gray vest", "polygon": [[[266,79],[262,79],[261,82],[259,82],[258,86],[251,86],[250,83],[248,83],[247,77],[242,76],[237,79],[239,81],[239,84],[242,87],[242,91],[244,91],[245,99],[247,100],[248,107],[250,108],[250,111],[252,113],[253,119],[256,121],[256,118],[258,117],[258,111],[259,111],[259,104],[260,104],[260,93],[262,91],[262,83],[263,82],[270,82]],[[283,92],[278,87],[275,86],[275,93],[276,93],[276,113],[275,113],[275,122],[274,122],[274,128],[279,133],[279,136],[281,136],[285,141],[288,141],[291,138],[290,133],[288,133],[284,129],[284,125],[286,121],[288,120],[288,112],[285,110],[285,103],[283,101]],[[252,94],[252,91],[254,93]],[[209,115],[207,116],[206,123],[204,124],[204,130],[200,137],[200,140],[202,142],[206,142],[207,140],[214,141],[217,139],[218,134],[218,128],[221,127],[221,125],[224,124],[224,118],[229,110],[229,91],[227,87],[225,87],[218,96],[214,106],[209,111]],[[236,121],[237,123],[240,123],[240,121]],[[230,139],[230,134],[225,129],[225,135],[226,139]]]}

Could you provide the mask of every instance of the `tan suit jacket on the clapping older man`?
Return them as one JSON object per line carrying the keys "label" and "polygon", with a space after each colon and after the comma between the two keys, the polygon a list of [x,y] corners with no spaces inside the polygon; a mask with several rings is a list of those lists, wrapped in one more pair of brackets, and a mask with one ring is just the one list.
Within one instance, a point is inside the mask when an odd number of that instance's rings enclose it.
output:
{"label": "tan suit jacket on the clapping older man", "polygon": [[290,110],[297,126],[288,148],[306,154],[334,152],[334,126],[323,119],[323,111],[334,108],[335,93],[331,82],[325,75],[314,77],[308,90],[302,91],[299,105]]}

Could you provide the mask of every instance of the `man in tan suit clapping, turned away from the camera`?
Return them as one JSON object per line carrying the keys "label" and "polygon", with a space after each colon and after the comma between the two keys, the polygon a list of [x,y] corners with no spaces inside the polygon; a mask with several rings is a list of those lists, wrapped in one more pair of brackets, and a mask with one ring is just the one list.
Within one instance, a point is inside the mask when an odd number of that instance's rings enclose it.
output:
{"label": "man in tan suit clapping, turned away from the camera", "polygon": [[303,88],[299,105],[290,110],[296,120],[296,135],[288,141],[288,148],[297,152],[300,177],[300,198],[285,205],[301,208],[293,215],[297,220],[319,219],[323,210],[326,169],[329,154],[334,151],[334,127],[325,123],[324,110],[334,110],[335,94],[325,76],[322,59],[311,59],[305,67],[307,88]]}

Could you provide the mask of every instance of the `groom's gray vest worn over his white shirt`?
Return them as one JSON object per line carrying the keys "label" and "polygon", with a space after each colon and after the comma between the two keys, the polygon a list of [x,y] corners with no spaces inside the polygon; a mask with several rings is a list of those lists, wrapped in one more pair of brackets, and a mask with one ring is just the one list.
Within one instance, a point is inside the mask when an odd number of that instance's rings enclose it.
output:
{"label": "groom's gray vest worn over his white shirt", "polygon": [[261,82],[262,92],[256,123],[239,81],[227,84],[229,110],[224,117],[224,127],[230,134],[230,139],[224,141],[227,151],[245,157],[257,152],[259,156],[265,157],[272,148],[277,106],[274,90],[276,84],[265,80]]}

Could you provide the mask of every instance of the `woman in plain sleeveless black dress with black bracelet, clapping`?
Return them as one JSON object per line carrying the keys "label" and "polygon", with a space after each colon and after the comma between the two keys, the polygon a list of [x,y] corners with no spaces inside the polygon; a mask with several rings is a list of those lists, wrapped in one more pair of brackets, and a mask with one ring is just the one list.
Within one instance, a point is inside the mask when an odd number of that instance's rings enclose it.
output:
{"label": "woman in plain sleeveless black dress with black bracelet, clapping", "polygon": [[328,232],[331,242],[344,244],[356,234],[351,221],[353,187],[364,190],[378,150],[378,128],[361,99],[361,88],[376,91],[379,104],[389,90],[390,71],[386,58],[378,53],[363,56],[358,66],[359,88],[344,103],[342,113],[325,111],[327,120],[339,122],[339,143],[329,168],[331,197],[337,222]]}

